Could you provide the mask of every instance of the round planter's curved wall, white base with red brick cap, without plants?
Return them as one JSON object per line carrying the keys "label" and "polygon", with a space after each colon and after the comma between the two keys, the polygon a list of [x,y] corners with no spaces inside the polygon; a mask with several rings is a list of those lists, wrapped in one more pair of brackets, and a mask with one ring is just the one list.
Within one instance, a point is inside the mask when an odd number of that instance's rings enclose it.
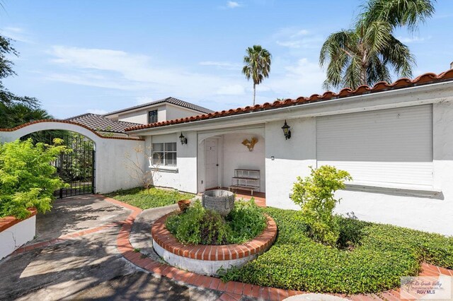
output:
{"label": "round planter's curved wall, white base with red brick cap, without plants", "polygon": [[242,266],[265,252],[275,241],[277,225],[267,216],[265,230],[244,244],[226,244],[222,246],[204,244],[182,244],[168,232],[165,226],[166,216],[162,216],[151,227],[153,247],[168,264],[178,268],[215,276],[219,268]]}

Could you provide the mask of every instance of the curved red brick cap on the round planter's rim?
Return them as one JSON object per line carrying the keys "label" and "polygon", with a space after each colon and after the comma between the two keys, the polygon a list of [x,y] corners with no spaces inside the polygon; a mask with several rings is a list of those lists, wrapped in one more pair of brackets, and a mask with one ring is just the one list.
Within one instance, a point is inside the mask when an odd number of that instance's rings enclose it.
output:
{"label": "curved red brick cap on the round planter's rim", "polygon": [[253,240],[243,244],[226,245],[203,245],[203,244],[182,244],[176,240],[166,228],[165,222],[171,214],[168,213],[154,222],[151,227],[151,235],[154,241],[168,252],[183,256],[189,259],[205,261],[219,261],[241,259],[243,257],[259,254],[269,249],[277,237],[277,225],[270,216],[266,216],[266,228]]}

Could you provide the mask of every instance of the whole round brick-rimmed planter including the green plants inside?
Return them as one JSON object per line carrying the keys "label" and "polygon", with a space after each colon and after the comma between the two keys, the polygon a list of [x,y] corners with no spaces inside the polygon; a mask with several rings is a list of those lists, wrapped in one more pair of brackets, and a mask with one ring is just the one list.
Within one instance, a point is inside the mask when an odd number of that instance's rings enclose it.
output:
{"label": "whole round brick-rimmed planter including the green plants inside", "polygon": [[156,253],[168,264],[212,276],[269,249],[277,226],[253,201],[236,202],[225,218],[195,202],[184,213],[156,220],[151,234]]}

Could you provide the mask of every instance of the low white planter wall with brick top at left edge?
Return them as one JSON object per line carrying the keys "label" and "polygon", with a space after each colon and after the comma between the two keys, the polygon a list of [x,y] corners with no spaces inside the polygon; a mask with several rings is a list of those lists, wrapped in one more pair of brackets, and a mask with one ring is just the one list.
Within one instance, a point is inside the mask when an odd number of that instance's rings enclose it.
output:
{"label": "low white planter wall with brick top at left edge", "polygon": [[30,212],[31,215],[23,220],[13,216],[0,218],[0,259],[35,237],[36,209],[31,208]]}

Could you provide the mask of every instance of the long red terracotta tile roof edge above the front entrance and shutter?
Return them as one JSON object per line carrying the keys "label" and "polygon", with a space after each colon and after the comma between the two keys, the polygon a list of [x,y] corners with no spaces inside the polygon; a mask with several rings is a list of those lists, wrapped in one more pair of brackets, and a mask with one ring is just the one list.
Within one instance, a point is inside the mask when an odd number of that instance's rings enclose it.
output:
{"label": "long red terracotta tile roof edge above the front entrance and shutter", "polygon": [[383,92],[387,90],[396,90],[396,89],[401,89],[401,88],[409,88],[413,87],[415,85],[427,85],[429,83],[440,83],[442,81],[452,81],[453,80],[453,69],[449,71],[445,71],[440,74],[435,74],[435,73],[425,73],[421,76],[418,76],[417,78],[411,80],[409,78],[400,78],[398,81],[395,81],[394,83],[386,83],[386,82],[379,82],[376,83],[373,87],[369,87],[367,85],[360,85],[355,90],[352,90],[350,88],[344,88],[340,90],[340,92],[335,93],[331,91],[327,91],[326,93],[323,93],[322,95],[319,94],[314,94],[311,95],[309,98],[305,97],[299,97],[295,100],[292,99],[287,99],[287,100],[282,100],[282,101],[275,101],[273,103],[270,102],[265,102],[263,105],[254,105],[254,106],[247,106],[247,107],[238,107],[237,109],[231,109],[231,110],[223,110],[223,111],[218,111],[218,112],[212,112],[209,114],[202,114],[202,115],[197,115],[197,116],[192,116],[192,117],[186,117],[182,119],[173,119],[173,120],[168,120],[165,122],[155,122],[154,124],[142,124],[139,126],[132,126],[128,127],[125,129],[125,131],[137,131],[140,129],[152,129],[160,126],[168,126],[171,124],[183,124],[187,122],[195,122],[195,121],[200,121],[200,120],[205,120],[205,119],[214,119],[214,118],[219,118],[219,117],[226,117],[226,116],[231,116],[231,115],[237,115],[237,114],[244,114],[244,113],[249,113],[249,112],[260,112],[264,110],[273,110],[277,109],[280,107],[290,107],[294,105],[304,105],[307,103],[311,102],[321,102],[325,100],[333,100],[333,99],[338,99],[338,98],[348,98],[352,96],[357,96],[357,95],[364,95],[364,94],[369,94],[369,93],[377,93],[377,92]]}

